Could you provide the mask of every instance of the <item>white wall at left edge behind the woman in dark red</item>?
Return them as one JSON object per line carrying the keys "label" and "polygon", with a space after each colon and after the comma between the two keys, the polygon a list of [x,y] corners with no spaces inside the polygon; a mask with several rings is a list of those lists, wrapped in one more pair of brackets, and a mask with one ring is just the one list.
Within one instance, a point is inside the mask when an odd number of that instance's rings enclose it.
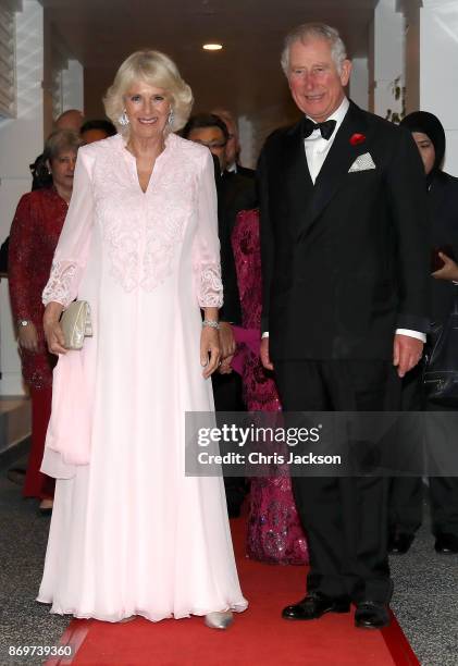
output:
{"label": "white wall at left edge behind the woman in dark red", "polygon": [[[28,165],[42,151],[44,10],[24,0],[16,15],[17,118],[0,120],[0,238],[10,231],[17,201],[30,189]],[[21,365],[11,321],[8,281],[0,284],[1,395],[23,393]]]}

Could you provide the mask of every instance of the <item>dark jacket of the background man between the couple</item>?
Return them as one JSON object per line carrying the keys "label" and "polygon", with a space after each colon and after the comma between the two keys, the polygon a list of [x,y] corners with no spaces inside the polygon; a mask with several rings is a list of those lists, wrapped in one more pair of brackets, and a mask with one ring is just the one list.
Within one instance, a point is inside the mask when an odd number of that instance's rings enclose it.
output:
{"label": "dark jacket of the background man between the couple", "polygon": [[224,292],[224,303],[220,310],[220,319],[221,321],[240,324],[240,298],[231,236],[237,213],[240,210],[248,210],[257,206],[256,184],[252,178],[225,171],[216,178],[216,190],[221,275]]}

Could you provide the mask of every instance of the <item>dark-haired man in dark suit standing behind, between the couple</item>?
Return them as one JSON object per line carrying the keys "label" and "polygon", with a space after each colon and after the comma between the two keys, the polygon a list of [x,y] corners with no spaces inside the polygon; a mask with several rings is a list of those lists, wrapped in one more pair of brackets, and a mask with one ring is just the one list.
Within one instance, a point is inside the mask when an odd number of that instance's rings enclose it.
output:
{"label": "dark-haired man in dark suit standing behind, between the couple", "polygon": [[[257,205],[255,182],[227,171],[226,146],[228,132],[225,123],[211,113],[193,115],[183,128],[182,136],[207,146],[218,159],[220,174],[216,174],[218,232],[221,244],[221,273],[224,287],[224,304],[220,310],[220,340],[222,366],[212,377],[214,406],[218,411],[244,411],[242,379],[232,372],[231,361],[235,353],[232,324],[242,323],[240,297],[237,286],[234,252],[231,235],[237,213]],[[225,477],[227,509],[231,518],[240,514],[246,495],[246,481],[240,477]]]}

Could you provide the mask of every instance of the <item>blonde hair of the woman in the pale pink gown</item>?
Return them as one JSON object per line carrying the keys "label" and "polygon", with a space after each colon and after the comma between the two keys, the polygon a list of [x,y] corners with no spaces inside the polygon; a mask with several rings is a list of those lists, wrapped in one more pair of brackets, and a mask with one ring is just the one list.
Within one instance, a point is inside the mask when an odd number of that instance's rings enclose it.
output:
{"label": "blonde hair of the woman in the pale pink gown", "polygon": [[120,123],[120,118],[125,110],[124,96],[138,81],[156,88],[163,88],[168,92],[173,110],[173,121],[168,125],[168,130],[170,132],[181,130],[186,124],[193,108],[193,91],[168,55],[146,49],[136,51],[124,60],[103,98],[106,113],[117,132],[127,134],[129,131],[128,125]]}

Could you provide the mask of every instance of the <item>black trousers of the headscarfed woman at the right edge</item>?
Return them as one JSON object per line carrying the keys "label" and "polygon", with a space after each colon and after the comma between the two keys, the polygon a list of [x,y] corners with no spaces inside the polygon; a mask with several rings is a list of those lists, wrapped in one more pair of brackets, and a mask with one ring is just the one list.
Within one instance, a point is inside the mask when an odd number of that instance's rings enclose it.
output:
{"label": "black trousers of the headscarfed woman at the right edge", "polygon": [[[418,366],[403,380],[401,405],[404,410],[448,411],[424,399],[422,393],[422,367]],[[450,443],[453,446],[456,443]],[[393,479],[389,489],[391,531],[413,534],[422,522],[424,485],[419,478]],[[458,536],[458,477],[430,477],[429,497],[433,534],[447,533]]]}

